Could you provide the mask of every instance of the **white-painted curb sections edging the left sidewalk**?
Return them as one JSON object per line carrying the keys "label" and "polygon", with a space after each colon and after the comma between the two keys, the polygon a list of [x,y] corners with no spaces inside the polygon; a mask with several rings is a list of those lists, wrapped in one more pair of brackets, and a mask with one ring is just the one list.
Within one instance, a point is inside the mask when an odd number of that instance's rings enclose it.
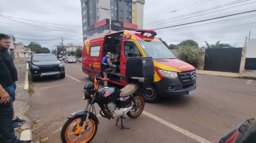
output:
{"label": "white-painted curb sections edging the left sidewalk", "polygon": [[[25,75],[25,84],[24,84],[24,90],[28,91],[29,89],[29,80],[28,80],[28,68],[29,65],[27,64],[27,70],[26,70],[26,75]],[[31,130],[31,123],[30,123],[30,119],[26,116],[24,116],[26,118],[26,123],[24,123],[22,125],[21,128],[24,128],[25,130],[22,131],[22,133],[20,133],[20,140],[32,140],[32,130]]]}

